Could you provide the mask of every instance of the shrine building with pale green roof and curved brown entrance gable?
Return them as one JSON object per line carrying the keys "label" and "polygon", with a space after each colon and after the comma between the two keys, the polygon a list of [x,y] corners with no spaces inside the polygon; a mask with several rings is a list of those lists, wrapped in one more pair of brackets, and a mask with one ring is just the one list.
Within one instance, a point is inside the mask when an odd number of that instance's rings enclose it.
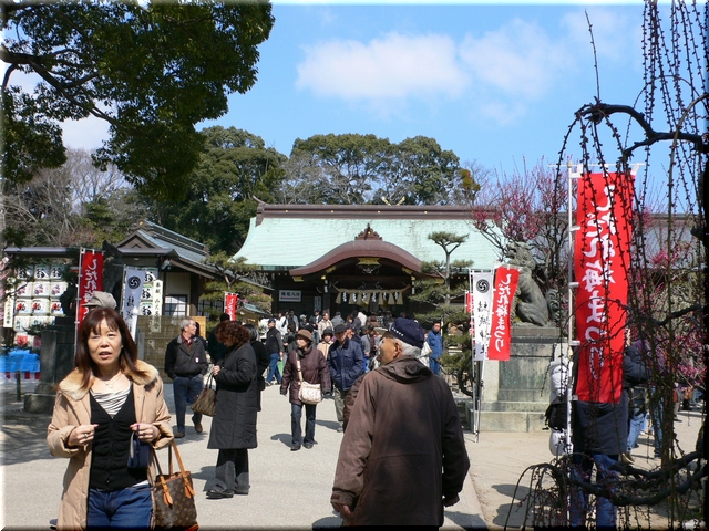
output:
{"label": "shrine building with pale green roof and curved brown entrance gable", "polygon": [[[422,280],[435,278],[422,262],[445,261],[443,248],[428,238],[433,232],[466,235],[451,261],[470,260],[471,270],[492,270],[500,259],[466,207],[265,202],[234,258],[269,279],[274,314],[329,310],[345,316],[359,306],[397,316],[427,311],[409,299]],[[467,271],[455,271],[452,280],[466,282]]]}

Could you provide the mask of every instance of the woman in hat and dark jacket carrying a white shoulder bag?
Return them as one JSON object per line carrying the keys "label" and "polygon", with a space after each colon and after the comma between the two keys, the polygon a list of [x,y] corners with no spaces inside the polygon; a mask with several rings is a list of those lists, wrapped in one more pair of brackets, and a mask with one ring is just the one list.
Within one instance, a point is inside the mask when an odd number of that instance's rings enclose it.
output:
{"label": "woman in hat and dark jacket carrying a white shoulder bag", "polygon": [[[297,451],[300,446],[312,448],[315,442],[315,409],[317,404],[304,404],[298,398],[300,378],[298,376],[298,362],[302,379],[310,384],[320,384],[322,394],[330,393],[330,369],[322,353],[312,346],[312,334],[309,330],[298,331],[295,341],[296,347],[288,353],[284,379],[280,382],[280,394],[286,395],[290,386],[290,429],[292,434],[291,451]],[[300,418],[302,407],[306,408],[306,436],[302,437]]]}

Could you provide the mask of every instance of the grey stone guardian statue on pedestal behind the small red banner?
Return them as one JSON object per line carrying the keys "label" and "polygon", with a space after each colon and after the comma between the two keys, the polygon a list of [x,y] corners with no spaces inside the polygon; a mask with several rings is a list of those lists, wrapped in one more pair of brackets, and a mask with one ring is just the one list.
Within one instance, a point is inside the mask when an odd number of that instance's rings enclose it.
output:
{"label": "grey stone guardian statue on pedestal behind the small red banner", "polygon": [[520,270],[520,281],[515,293],[514,313],[523,323],[546,326],[549,311],[544,293],[534,281],[532,273],[537,267],[528,243],[515,241],[505,249],[508,264]]}

